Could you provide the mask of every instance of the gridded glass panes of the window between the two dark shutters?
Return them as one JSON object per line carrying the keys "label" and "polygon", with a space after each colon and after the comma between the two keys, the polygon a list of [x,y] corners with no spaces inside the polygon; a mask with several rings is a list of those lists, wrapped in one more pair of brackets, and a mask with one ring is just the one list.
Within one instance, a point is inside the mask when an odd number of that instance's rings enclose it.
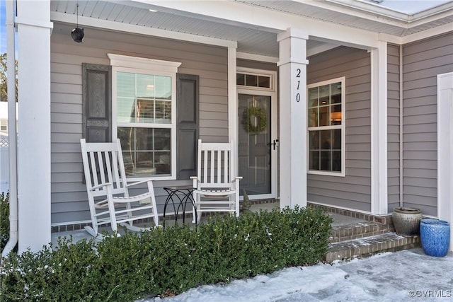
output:
{"label": "gridded glass panes of the window between the two dark shutters", "polygon": [[171,85],[171,76],[117,72],[117,137],[128,176],[171,175]]}

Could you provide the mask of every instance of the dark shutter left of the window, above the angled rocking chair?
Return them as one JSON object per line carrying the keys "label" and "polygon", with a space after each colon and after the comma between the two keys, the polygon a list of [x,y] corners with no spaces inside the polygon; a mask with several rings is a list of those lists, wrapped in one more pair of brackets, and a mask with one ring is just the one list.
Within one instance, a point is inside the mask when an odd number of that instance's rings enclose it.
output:
{"label": "dark shutter left of the window, above the angled rocking chair", "polygon": [[112,141],[112,68],[82,64],[82,137],[87,142]]}

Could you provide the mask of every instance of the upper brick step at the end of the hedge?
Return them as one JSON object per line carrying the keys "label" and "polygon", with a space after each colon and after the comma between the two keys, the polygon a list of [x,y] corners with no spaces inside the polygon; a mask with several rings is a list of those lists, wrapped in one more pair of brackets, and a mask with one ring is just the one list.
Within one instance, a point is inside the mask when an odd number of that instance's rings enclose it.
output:
{"label": "upper brick step at the end of the hedge", "polygon": [[390,228],[389,224],[382,224],[376,221],[363,221],[334,226],[329,240],[331,243],[338,243],[345,240],[381,235],[392,231],[394,229]]}

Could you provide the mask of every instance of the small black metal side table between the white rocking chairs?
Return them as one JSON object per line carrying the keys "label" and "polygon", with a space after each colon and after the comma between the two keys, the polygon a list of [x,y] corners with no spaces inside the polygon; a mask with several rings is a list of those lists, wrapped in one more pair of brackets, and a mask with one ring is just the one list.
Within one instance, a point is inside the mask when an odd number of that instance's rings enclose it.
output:
{"label": "small black metal side table between the white rocking chairs", "polygon": [[[195,213],[195,221],[197,221],[197,208],[195,205],[195,200],[193,199],[192,192],[195,191],[195,188],[190,185],[182,185],[182,186],[172,186],[172,187],[164,187],[164,190],[168,193],[168,197],[165,200],[164,205],[164,226],[165,226],[165,214],[166,209],[168,206],[168,202],[173,204],[173,210],[175,211],[175,223],[178,221],[178,214],[180,209],[183,210],[183,223],[185,223],[185,207],[187,203],[190,202],[193,207],[193,212]],[[174,199],[177,197],[178,199]],[[178,204],[176,207],[175,202]]]}

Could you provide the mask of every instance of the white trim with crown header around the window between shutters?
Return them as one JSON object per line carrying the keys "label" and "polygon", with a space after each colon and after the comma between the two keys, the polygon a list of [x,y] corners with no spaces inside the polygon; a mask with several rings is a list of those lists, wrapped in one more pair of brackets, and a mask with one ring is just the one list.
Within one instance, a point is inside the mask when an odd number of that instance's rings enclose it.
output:
{"label": "white trim with crown header around the window between shutters", "polygon": [[[132,176],[127,180],[138,181],[144,177],[154,180],[176,180],[176,73],[180,62],[162,61],[140,57],[129,57],[120,54],[107,54],[112,66],[112,137],[117,137],[117,72],[132,74],[151,74],[171,77],[171,124],[155,124],[159,128],[171,128],[171,175]],[[127,123],[128,127],[133,126]],[[139,126],[138,126],[139,127]]]}

